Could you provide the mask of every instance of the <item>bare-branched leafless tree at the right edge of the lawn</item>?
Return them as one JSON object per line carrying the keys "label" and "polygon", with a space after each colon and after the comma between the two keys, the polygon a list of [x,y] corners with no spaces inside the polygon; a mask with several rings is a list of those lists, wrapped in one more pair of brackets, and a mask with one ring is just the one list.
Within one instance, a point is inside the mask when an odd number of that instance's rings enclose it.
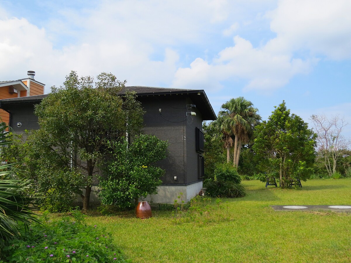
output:
{"label": "bare-branched leafless tree at the right edge of the lawn", "polygon": [[325,114],[312,115],[311,120],[318,134],[318,153],[323,156],[322,161],[331,176],[336,171],[337,160],[351,146],[351,140],[342,135],[343,128],[349,123],[346,123],[339,115],[330,118]]}

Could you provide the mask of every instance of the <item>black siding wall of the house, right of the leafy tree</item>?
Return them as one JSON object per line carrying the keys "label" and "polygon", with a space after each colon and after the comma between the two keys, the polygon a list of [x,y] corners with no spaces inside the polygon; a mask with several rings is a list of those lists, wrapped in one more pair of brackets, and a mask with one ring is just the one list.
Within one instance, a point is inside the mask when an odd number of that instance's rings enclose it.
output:
{"label": "black siding wall of the house, right of the leafy tree", "polygon": [[[187,108],[193,101],[186,95],[138,97],[144,110],[144,132],[169,143],[167,159],[158,164],[166,170],[163,184],[189,184],[199,181],[195,129],[202,126],[198,109]],[[161,109],[161,112],[159,112]],[[195,112],[196,116],[186,116]],[[174,180],[176,176],[177,180]]]}

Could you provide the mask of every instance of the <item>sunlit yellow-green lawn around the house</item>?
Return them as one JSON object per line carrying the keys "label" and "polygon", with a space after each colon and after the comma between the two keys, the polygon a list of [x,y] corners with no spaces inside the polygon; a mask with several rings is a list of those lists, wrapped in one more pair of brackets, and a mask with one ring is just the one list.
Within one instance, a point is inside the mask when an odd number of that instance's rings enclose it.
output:
{"label": "sunlit yellow-green lawn around the house", "polygon": [[[350,205],[351,178],[309,180],[300,189],[265,188],[243,181],[247,196],[212,201],[210,215],[196,222],[153,212],[89,216],[105,226],[133,262],[351,262],[351,214],[273,211],[270,205]],[[177,223],[178,222],[178,223]]]}

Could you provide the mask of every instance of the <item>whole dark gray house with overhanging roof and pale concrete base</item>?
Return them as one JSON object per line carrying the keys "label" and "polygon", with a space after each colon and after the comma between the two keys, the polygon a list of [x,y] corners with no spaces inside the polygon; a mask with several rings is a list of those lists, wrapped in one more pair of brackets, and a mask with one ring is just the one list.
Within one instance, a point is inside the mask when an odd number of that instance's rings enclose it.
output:
{"label": "whole dark gray house with overhanging roof and pale concrete base", "polygon": [[[159,163],[166,170],[161,178],[163,184],[158,195],[148,196],[156,203],[173,203],[178,193],[183,193],[185,201],[197,195],[204,175],[204,136],[202,122],[215,120],[210,102],[204,90],[125,87],[121,90],[137,93],[144,107],[144,131],[168,140],[168,157]],[[38,129],[38,118],[33,114],[34,105],[47,95],[17,97],[0,100],[0,108],[10,114],[9,125],[15,133],[25,129]],[[95,197],[96,198],[96,197]],[[94,200],[92,197],[91,201]]]}

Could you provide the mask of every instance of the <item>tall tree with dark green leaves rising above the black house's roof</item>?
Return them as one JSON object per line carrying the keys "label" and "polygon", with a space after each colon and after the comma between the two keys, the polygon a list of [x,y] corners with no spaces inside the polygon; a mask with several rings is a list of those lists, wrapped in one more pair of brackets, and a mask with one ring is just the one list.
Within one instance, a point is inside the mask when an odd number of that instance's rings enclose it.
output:
{"label": "tall tree with dark green leaves rising above the black house's roof", "polygon": [[93,177],[98,176],[96,168],[104,161],[108,142],[139,134],[144,114],[133,93],[117,95],[125,82],[107,73],[97,79],[94,83],[92,77],[79,78],[72,71],[63,87],[52,87],[35,107],[40,129],[31,141],[42,161],[55,160],[64,174],[81,177],[75,187],[85,190],[80,191],[84,210],[89,208]]}

